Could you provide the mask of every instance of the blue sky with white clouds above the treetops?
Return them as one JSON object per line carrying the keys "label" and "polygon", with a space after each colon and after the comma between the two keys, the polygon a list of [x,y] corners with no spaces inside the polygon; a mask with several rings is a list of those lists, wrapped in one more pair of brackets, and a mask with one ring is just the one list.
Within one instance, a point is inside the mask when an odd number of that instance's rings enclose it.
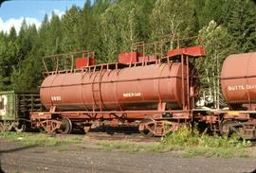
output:
{"label": "blue sky with white clouds above the treetops", "polygon": [[62,16],[66,9],[73,5],[83,7],[85,0],[10,0],[4,2],[0,7],[0,31],[9,33],[11,26],[16,31],[20,30],[21,24],[26,19],[27,24],[35,24],[37,27],[47,14],[51,16],[52,11]]}

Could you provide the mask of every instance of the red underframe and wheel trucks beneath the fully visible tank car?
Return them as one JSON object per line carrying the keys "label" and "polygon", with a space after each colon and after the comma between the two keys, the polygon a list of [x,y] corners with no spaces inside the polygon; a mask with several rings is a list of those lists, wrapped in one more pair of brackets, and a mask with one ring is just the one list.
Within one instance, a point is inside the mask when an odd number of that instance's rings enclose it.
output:
{"label": "red underframe and wheel trucks beneath the fully visible tank car", "polygon": [[[184,111],[31,112],[30,120],[32,128],[43,129],[49,133],[70,133],[71,130],[62,130],[62,127],[72,129],[74,125],[85,132],[102,127],[138,127],[145,136],[150,136],[148,133],[164,136],[183,125],[188,126],[192,121],[192,114]],[[64,123],[68,120],[72,125]]]}

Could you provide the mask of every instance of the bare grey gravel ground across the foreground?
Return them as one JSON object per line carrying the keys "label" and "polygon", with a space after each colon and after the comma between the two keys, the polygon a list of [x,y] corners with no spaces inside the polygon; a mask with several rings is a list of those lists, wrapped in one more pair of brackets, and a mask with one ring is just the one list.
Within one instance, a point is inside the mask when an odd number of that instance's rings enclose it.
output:
{"label": "bare grey gravel ground across the foreground", "polygon": [[[256,160],[244,158],[183,158],[179,153],[129,153],[83,148],[56,151],[50,147],[21,147],[0,139],[2,172],[253,172]],[[0,171],[1,172],[1,171]]]}

